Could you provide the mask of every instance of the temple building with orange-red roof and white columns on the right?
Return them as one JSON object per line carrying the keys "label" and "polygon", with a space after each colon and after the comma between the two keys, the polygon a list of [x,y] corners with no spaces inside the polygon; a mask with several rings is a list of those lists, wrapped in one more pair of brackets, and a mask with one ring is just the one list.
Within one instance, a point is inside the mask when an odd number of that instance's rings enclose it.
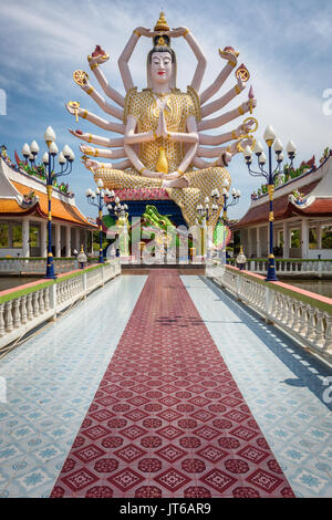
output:
{"label": "temple building with orange-red roof and white columns on the right", "polygon": [[[310,166],[298,177],[287,178],[281,174],[277,180],[273,194],[276,257],[332,258],[332,240],[322,243],[332,227],[332,152],[321,159],[318,168],[314,164]],[[251,195],[248,211],[234,228],[240,231],[248,258],[268,257],[269,210],[269,195],[259,190]]]}

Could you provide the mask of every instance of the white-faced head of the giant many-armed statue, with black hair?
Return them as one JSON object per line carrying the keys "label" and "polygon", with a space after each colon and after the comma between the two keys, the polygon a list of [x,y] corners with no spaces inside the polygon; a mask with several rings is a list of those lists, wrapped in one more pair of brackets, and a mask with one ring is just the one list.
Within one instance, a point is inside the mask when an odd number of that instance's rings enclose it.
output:
{"label": "white-faced head of the giant many-armed statue, with black hair", "polygon": [[154,46],[147,55],[147,86],[166,83],[170,89],[176,86],[176,55],[169,45],[167,34],[154,37]]}

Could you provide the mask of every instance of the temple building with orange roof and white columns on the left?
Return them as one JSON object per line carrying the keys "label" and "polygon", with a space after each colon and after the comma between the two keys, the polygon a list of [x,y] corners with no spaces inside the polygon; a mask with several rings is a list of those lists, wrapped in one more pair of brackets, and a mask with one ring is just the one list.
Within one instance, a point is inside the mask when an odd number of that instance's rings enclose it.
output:
{"label": "temple building with orange roof and white columns on the left", "polygon": [[[27,168],[28,170],[28,168]],[[48,195],[38,169],[30,173],[0,156],[0,257],[46,257]],[[54,257],[72,257],[83,245],[92,251],[97,229],[76,207],[68,186],[52,193],[52,250]]]}

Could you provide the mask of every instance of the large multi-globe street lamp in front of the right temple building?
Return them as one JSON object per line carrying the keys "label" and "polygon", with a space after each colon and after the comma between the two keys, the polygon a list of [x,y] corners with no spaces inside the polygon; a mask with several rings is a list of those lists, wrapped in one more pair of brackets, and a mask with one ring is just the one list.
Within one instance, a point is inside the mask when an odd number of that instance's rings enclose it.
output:
{"label": "large multi-globe street lamp in front of the right temple building", "polygon": [[[269,208],[269,267],[268,267],[268,274],[266,280],[269,282],[276,282],[278,281],[277,274],[276,274],[276,262],[274,262],[274,254],[273,254],[273,193],[274,193],[274,180],[278,175],[282,173],[281,169],[281,164],[283,162],[283,154],[282,154],[282,143],[280,139],[276,139],[276,133],[272,128],[272,126],[268,126],[266,132],[264,132],[264,141],[268,145],[269,148],[269,169],[268,171],[264,170],[264,165],[267,162],[267,156],[263,153],[263,147],[262,145],[257,142],[256,146],[253,148],[253,153],[257,156],[258,160],[258,166],[259,166],[259,171],[255,171],[251,169],[251,163],[252,163],[252,152],[249,146],[246,146],[243,149],[243,156],[248,166],[249,174],[252,175],[253,177],[264,177],[268,183],[268,194],[269,194],[269,200],[270,200],[270,208]],[[273,169],[272,168],[272,145],[273,150],[276,153],[276,159],[278,166]],[[295,157],[297,153],[297,147],[292,141],[290,141],[287,145],[287,153],[290,158],[290,167],[293,167],[293,160]]]}

